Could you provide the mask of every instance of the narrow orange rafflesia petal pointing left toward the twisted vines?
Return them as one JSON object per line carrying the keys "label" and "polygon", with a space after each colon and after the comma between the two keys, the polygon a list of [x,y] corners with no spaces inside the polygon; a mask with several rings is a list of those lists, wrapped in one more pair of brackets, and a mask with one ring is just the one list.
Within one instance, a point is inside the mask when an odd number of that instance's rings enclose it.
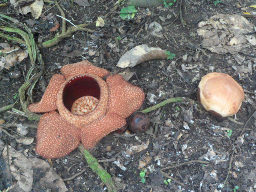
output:
{"label": "narrow orange rafflesia petal pointing left toward the twisted vines", "polygon": [[64,82],[65,82],[64,75],[61,75],[61,74],[53,75],[40,102],[30,104],[28,106],[28,109],[35,113],[43,113],[43,112],[56,110],[57,94],[60,90],[61,85]]}

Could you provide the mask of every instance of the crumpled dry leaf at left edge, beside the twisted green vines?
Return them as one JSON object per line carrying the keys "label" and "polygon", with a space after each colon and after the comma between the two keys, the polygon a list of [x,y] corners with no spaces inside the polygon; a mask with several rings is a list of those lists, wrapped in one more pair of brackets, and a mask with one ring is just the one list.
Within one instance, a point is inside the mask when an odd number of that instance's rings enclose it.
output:
{"label": "crumpled dry leaf at left edge, beside the twisted green vines", "polygon": [[[2,47],[2,48],[1,48]],[[10,54],[4,54],[7,52],[10,52],[14,49],[17,49],[14,52],[11,52]],[[19,49],[18,46],[11,47],[8,43],[0,43],[0,71],[3,68],[6,68],[7,70],[10,70],[10,68],[17,62],[20,62],[28,57],[28,52]]]}

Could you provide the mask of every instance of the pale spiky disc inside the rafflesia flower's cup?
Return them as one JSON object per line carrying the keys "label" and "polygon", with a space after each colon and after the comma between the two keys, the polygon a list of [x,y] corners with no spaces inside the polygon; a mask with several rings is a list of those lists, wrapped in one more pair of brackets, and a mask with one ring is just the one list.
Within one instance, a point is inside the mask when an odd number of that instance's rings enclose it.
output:
{"label": "pale spiky disc inside the rafflesia flower's cup", "polygon": [[98,103],[99,100],[93,96],[83,96],[73,103],[71,112],[75,115],[84,115],[94,110]]}

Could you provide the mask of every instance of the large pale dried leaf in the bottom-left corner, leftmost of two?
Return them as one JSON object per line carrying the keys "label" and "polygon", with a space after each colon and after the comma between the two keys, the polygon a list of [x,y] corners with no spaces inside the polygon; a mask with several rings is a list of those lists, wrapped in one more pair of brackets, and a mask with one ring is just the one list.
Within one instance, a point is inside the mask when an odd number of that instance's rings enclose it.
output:
{"label": "large pale dried leaf in the bottom-left corner, leftmost of two", "polygon": [[[17,180],[17,182],[13,182],[13,186],[10,187],[12,190],[10,191],[31,192],[33,185],[33,169],[31,162],[28,161],[22,153],[16,151],[11,146],[6,146],[4,148],[2,158],[6,166],[5,171],[7,171],[7,174],[8,170],[10,170],[12,177]],[[10,169],[8,169],[8,165],[10,166]]]}

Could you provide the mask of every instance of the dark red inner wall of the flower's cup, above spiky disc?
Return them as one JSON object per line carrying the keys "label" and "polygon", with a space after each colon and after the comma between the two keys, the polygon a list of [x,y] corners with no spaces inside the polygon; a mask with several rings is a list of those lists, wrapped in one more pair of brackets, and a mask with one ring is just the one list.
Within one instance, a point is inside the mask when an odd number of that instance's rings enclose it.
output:
{"label": "dark red inner wall of the flower's cup, above spiky disc", "polygon": [[64,106],[71,112],[72,104],[80,97],[93,96],[100,99],[100,86],[92,77],[77,77],[66,84],[63,90]]}

